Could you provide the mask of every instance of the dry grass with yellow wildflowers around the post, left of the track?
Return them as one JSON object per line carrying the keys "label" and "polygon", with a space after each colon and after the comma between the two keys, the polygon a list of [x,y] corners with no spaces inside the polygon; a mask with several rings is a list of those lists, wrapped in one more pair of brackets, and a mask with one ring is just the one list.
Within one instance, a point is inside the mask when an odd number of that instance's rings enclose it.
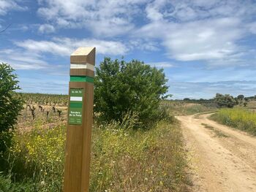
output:
{"label": "dry grass with yellow wildflowers around the post, left of the track", "polygon": [[[0,191],[61,191],[65,126],[42,127],[37,122],[15,135],[1,164]],[[90,191],[187,191],[186,154],[175,120],[147,131],[124,123],[94,126],[92,140]]]}

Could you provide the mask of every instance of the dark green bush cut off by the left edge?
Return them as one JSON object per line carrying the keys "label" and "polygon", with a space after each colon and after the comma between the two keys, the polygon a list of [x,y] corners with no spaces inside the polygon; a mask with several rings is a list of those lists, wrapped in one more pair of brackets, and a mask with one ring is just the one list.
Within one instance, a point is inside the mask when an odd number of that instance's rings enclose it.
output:
{"label": "dark green bush cut off by the left edge", "polygon": [[8,64],[0,64],[0,153],[11,145],[12,133],[23,101],[15,93],[20,89],[17,75]]}

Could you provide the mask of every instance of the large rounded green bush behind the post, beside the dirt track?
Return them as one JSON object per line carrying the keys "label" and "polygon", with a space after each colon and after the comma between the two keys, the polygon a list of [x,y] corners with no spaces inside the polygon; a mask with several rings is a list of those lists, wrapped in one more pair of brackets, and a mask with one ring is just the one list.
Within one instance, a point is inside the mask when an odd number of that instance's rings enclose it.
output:
{"label": "large rounded green bush behind the post, beside the dirt track", "polygon": [[163,69],[105,58],[96,68],[94,111],[106,121],[121,121],[125,113],[135,112],[146,125],[159,115],[159,101],[167,97],[166,82]]}

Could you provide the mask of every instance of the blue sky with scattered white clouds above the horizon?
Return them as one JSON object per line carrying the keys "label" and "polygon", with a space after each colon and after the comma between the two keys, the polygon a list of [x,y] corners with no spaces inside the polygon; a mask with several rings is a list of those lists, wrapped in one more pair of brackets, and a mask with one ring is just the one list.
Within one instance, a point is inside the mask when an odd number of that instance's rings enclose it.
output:
{"label": "blue sky with scattered white clouds above the horizon", "polygon": [[69,55],[163,68],[173,99],[256,95],[256,1],[0,0],[0,62],[23,92],[67,93]]}

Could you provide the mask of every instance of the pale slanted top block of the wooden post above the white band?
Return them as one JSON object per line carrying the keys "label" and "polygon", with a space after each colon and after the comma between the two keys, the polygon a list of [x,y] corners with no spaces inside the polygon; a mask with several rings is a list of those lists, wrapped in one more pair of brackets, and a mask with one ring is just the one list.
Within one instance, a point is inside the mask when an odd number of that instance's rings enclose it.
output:
{"label": "pale slanted top block of the wooden post above the white band", "polygon": [[70,55],[71,64],[95,64],[95,47],[79,47]]}

